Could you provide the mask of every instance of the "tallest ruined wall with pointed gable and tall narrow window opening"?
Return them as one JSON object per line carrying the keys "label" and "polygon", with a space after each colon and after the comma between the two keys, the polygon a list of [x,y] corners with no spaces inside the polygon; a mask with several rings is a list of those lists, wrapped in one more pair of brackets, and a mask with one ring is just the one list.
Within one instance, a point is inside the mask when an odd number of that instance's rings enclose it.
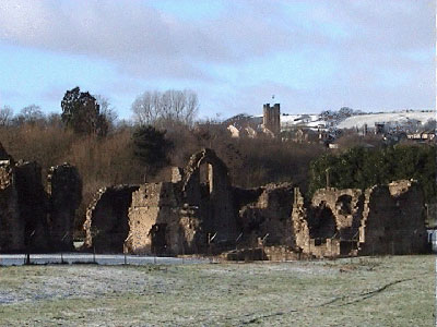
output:
{"label": "tallest ruined wall with pointed gable and tall narrow window opening", "polygon": [[212,149],[191,156],[185,170],[182,197],[184,203],[199,208],[206,238],[215,235],[216,244],[235,243],[238,231],[233,189],[226,165]]}

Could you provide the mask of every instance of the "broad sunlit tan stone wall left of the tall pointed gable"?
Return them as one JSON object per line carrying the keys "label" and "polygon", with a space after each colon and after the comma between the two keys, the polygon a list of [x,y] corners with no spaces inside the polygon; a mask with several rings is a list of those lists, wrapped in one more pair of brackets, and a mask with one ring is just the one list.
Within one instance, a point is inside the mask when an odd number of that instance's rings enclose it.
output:
{"label": "broad sunlit tan stone wall left of the tall pointed gable", "polygon": [[132,193],[129,234],[125,249],[135,254],[178,254],[182,240],[179,226],[180,186],[146,183]]}

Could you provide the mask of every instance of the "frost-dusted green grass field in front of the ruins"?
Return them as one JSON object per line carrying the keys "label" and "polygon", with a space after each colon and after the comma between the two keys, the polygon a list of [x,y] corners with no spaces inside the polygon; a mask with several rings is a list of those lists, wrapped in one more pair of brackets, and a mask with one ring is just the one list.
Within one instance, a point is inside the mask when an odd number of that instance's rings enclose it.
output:
{"label": "frost-dusted green grass field in front of the ruins", "polygon": [[0,326],[434,326],[435,256],[0,267]]}

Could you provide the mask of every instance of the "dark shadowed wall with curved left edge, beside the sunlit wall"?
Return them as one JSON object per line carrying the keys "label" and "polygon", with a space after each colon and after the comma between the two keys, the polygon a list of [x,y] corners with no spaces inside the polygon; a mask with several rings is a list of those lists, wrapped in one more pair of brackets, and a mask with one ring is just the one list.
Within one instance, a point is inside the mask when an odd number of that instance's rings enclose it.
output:
{"label": "dark shadowed wall with curved left edge, beside the sunlit wall", "polygon": [[121,253],[129,233],[128,213],[137,185],[101,189],[86,210],[85,247],[96,252]]}

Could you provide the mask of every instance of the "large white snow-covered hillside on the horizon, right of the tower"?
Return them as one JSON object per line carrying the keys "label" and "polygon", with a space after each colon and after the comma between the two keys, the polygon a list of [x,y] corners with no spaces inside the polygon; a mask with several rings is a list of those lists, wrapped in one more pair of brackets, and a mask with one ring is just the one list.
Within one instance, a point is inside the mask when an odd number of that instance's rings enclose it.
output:
{"label": "large white snow-covered hillside on the horizon, right of the tower", "polygon": [[367,124],[374,128],[376,122],[379,123],[398,123],[404,124],[409,121],[420,121],[422,124],[430,119],[436,119],[436,112],[422,112],[422,111],[400,111],[400,112],[383,112],[383,113],[368,113],[352,116],[339,123],[339,129],[353,129],[362,128]]}

